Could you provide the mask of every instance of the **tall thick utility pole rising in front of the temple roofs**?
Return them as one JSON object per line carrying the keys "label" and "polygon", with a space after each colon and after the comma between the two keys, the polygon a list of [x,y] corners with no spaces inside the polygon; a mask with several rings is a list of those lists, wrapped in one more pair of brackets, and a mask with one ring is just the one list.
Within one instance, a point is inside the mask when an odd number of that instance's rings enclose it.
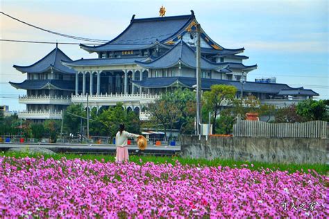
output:
{"label": "tall thick utility pole rising in front of the temple roofs", "polygon": [[202,135],[201,119],[201,26],[196,24],[196,127],[198,134]]}

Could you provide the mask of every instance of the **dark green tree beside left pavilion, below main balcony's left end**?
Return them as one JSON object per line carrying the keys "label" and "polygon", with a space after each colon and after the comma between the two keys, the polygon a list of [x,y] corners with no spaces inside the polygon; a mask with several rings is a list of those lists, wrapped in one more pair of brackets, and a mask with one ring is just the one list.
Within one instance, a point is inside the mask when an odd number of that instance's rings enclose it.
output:
{"label": "dark green tree beside left pavilion, below main balcony's left end", "polygon": [[[76,116],[73,116],[72,114]],[[86,121],[85,119],[81,119],[78,116],[82,116],[84,118],[87,116],[85,109],[83,109],[83,105],[69,105],[64,113],[64,132],[72,134],[80,132],[81,121],[83,125],[85,125]]]}

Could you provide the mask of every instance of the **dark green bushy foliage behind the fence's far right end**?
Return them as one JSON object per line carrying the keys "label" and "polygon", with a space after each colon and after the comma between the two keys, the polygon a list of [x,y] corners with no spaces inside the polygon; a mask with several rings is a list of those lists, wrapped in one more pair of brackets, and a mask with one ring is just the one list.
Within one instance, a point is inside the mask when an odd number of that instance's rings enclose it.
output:
{"label": "dark green bushy foliage behind the fence's far right end", "polygon": [[328,109],[323,100],[303,100],[296,106],[296,113],[305,121],[329,121]]}

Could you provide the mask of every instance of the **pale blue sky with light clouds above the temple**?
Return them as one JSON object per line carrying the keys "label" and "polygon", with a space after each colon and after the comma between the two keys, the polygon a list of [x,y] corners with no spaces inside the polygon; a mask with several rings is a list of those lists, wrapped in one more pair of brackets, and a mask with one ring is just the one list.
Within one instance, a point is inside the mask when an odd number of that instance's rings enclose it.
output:
{"label": "pale blue sky with light clouds above the temple", "polygon": [[[132,15],[158,17],[160,6],[167,16],[196,19],[212,40],[228,49],[244,47],[245,64],[258,64],[248,80],[275,76],[277,82],[317,91],[329,98],[328,1],[6,1],[1,11],[56,32],[111,40],[123,31]],[[79,42],[19,24],[0,15],[1,39]],[[17,90],[8,81],[26,79],[13,64],[29,65],[47,55],[55,45],[0,42],[0,105],[25,109]],[[73,60],[94,58],[77,45],[60,45]]]}

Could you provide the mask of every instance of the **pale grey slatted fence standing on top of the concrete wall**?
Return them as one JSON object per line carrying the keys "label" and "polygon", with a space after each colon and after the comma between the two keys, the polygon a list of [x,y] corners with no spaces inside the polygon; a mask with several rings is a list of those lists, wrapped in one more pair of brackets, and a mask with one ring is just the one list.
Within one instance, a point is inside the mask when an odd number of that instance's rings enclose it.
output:
{"label": "pale grey slatted fence standing on top of the concrete wall", "polygon": [[262,121],[237,120],[233,125],[235,137],[282,137],[328,139],[326,121],[306,123],[265,123]]}

